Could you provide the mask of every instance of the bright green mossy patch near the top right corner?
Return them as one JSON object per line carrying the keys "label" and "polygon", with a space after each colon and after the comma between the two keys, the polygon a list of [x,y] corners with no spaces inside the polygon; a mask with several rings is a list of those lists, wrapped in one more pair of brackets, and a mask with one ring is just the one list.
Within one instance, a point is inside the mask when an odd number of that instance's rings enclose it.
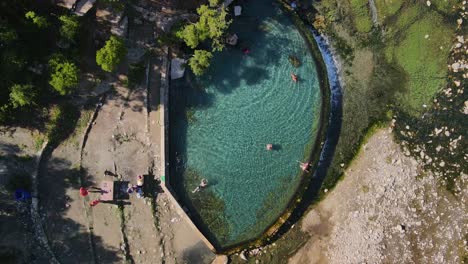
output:
{"label": "bright green mossy patch near the top right corner", "polygon": [[[453,27],[432,13],[412,24],[394,49],[396,63],[406,72],[400,107],[417,115],[445,84]],[[427,37],[427,38],[426,38]]]}

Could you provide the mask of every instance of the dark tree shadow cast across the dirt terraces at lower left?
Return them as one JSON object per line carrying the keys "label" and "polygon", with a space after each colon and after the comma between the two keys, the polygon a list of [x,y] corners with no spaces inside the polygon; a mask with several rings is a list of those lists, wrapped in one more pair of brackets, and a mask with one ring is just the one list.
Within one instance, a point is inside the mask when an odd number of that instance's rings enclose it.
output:
{"label": "dark tree shadow cast across the dirt terraces at lower left", "polygon": [[[68,160],[51,156],[52,153],[49,152],[45,153],[39,169],[39,212],[50,247],[57,259],[62,263],[92,263],[97,261],[96,252],[99,252],[105,259],[102,260],[104,262],[122,261],[123,255],[119,248],[104,245],[103,239],[91,235],[88,226],[83,224],[89,224],[88,217],[92,218],[92,215],[87,215],[86,208],[83,207],[81,212],[70,212],[73,209],[71,204],[81,206],[73,202],[74,199],[83,198],[78,195],[71,197],[70,193],[78,193],[80,176],[87,172],[73,166]],[[69,214],[81,214],[83,222],[75,222]]]}

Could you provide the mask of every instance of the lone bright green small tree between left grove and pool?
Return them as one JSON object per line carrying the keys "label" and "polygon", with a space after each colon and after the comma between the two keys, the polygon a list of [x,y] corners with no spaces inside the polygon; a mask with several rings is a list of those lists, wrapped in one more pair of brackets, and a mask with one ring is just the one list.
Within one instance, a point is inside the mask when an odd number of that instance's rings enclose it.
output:
{"label": "lone bright green small tree between left grove and pool", "polygon": [[127,48],[122,39],[111,36],[102,49],[96,53],[96,62],[107,72],[112,72],[117,68],[122,59],[127,54]]}

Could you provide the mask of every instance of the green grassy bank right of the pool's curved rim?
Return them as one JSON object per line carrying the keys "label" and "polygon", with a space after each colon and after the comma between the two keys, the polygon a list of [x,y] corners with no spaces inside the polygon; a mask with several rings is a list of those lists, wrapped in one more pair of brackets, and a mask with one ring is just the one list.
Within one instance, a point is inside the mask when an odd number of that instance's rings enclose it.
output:
{"label": "green grassy bank right of the pool's curved rim", "polygon": [[[355,22],[362,12],[356,14],[352,5],[332,0],[315,4],[328,18],[325,34],[342,61],[344,80],[342,131],[323,189],[334,187],[373,127],[396,113],[420,116],[446,83],[454,34],[447,5],[429,8],[403,1],[376,5],[380,28],[363,33]],[[352,61],[341,56],[343,45],[336,45],[343,41],[355,54]]]}

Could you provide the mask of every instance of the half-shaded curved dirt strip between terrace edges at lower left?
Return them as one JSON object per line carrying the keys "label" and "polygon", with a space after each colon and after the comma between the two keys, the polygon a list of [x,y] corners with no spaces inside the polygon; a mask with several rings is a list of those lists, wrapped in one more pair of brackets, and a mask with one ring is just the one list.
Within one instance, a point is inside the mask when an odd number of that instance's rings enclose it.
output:
{"label": "half-shaded curved dirt strip between terrace edges at lower left", "polygon": [[[62,263],[92,263],[88,220],[79,189],[79,151],[62,144],[44,152],[39,169],[39,212],[50,247]],[[77,250],[78,249],[78,250]]]}

